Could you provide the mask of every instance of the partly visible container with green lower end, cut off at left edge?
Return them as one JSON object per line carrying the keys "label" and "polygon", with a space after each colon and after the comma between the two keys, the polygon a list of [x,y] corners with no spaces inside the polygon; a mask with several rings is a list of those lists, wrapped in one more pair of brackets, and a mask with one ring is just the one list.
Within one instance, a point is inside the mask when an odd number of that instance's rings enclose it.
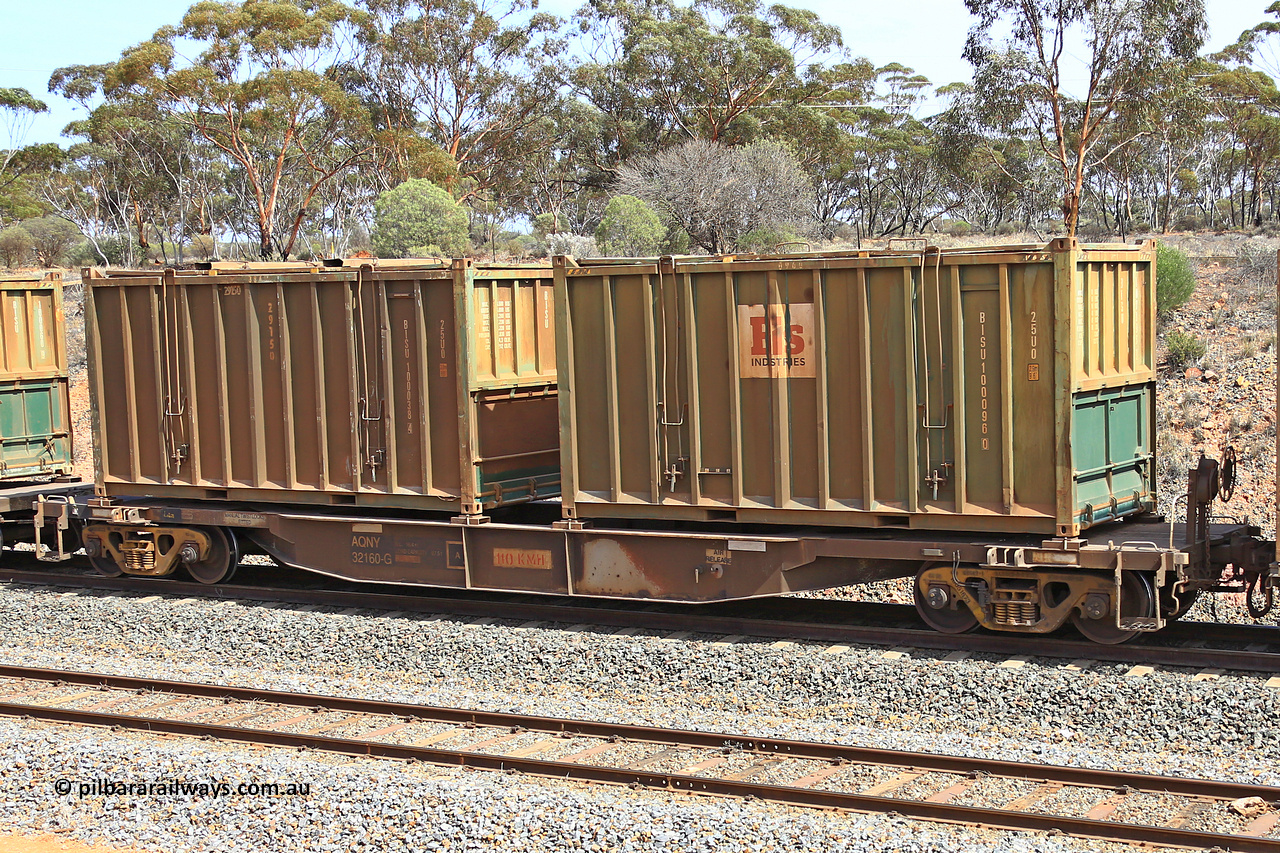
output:
{"label": "partly visible container with green lower end, cut off at left edge", "polygon": [[61,274],[0,278],[0,480],[70,471]]}

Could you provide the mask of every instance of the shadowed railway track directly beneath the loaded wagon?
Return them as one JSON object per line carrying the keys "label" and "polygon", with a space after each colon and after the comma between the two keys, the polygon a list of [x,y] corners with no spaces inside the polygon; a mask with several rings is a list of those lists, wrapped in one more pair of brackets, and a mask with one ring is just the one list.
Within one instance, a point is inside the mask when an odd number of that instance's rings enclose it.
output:
{"label": "shadowed railway track directly beneath the loaded wagon", "polygon": [[[544,596],[466,594],[403,589],[311,589],[251,584],[206,585],[170,579],[104,578],[38,564],[0,566],[0,583],[99,589],[192,598],[241,599],[448,613],[466,617],[586,624],[654,631],[689,631],[765,639],[854,643],[964,651],[1005,656],[1147,663],[1240,672],[1280,674],[1280,628],[1261,625],[1174,624],[1144,643],[1100,646],[1066,635],[940,634],[923,628],[904,605],[812,598],[772,598],[726,605],[666,605],[645,601],[584,601]],[[696,619],[690,617],[694,610]]]}

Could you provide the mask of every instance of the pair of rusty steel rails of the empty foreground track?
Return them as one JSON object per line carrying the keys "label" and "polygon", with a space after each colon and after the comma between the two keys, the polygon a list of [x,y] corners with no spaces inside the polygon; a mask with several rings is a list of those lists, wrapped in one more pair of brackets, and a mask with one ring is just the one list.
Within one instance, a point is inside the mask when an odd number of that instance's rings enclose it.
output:
{"label": "pair of rusty steel rails of the empty foreground track", "polygon": [[[412,721],[475,724],[477,726],[486,727],[515,729],[518,726],[531,731],[572,734],[602,739],[612,738],[627,742],[668,744],[673,747],[727,747],[746,752],[780,754],[801,760],[844,760],[856,763],[910,767],[911,770],[927,770],[934,772],[989,774],[1037,783],[1060,783],[1062,785],[1083,785],[1102,789],[1111,788],[1120,789],[1126,793],[1166,793],[1213,799],[1262,797],[1267,800],[1275,800],[1280,798],[1280,788],[1238,783],[1100,771],[1078,767],[1059,767],[1051,765],[1032,765],[987,758],[965,758],[933,753],[870,749],[863,747],[847,747],[842,744],[823,744],[773,738],[744,738],[742,735],[736,734],[682,731],[652,726],[593,722],[586,720],[566,720],[502,712],[467,711],[461,708],[440,708],[402,702],[379,702],[370,699],[329,697],[310,693],[287,693],[279,690],[236,688],[214,684],[188,684],[160,679],[101,675],[95,672],[65,672],[60,670],[3,666],[0,667],[0,676],[47,681],[54,685],[81,684],[120,690],[155,690],[165,694],[202,698],[233,698],[246,702],[252,701],[280,706],[312,707],[325,711],[349,711],[374,716],[408,717]],[[892,797],[867,795],[847,792],[815,790],[791,785],[767,785],[735,779],[714,779],[691,776],[686,774],[649,772],[627,767],[579,765],[572,762],[513,757],[498,753],[479,753],[466,749],[439,749],[431,747],[403,745],[378,740],[362,740],[358,738],[334,738],[319,734],[278,731],[273,729],[253,729],[223,724],[191,722],[187,720],[142,717],[132,716],[129,713],[79,711],[50,704],[19,704],[0,701],[0,715],[32,717],[77,725],[116,726],[146,733],[212,736],[221,740],[239,743],[308,748],[348,756],[417,760],[447,766],[518,771],[548,779],[637,785],[652,790],[718,794],[740,798],[755,797],[790,806],[836,808],[855,812],[897,812],[919,820],[980,825],[1004,830],[1029,830],[1043,833],[1056,831],[1080,838],[1116,841],[1144,841],[1148,844],[1204,849],[1216,847],[1249,853],[1280,852],[1280,839],[1256,838],[1248,835],[1226,835],[1220,833],[1202,833],[1167,826],[1119,824],[1088,817],[1019,812],[1004,808],[954,806],[940,802],[896,799]]]}

